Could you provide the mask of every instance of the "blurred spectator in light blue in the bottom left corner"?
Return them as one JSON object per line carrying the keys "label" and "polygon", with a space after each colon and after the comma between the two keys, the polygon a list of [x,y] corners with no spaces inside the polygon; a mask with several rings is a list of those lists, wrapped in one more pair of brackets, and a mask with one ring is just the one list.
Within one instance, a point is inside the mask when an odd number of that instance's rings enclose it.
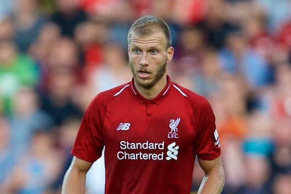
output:
{"label": "blurred spectator in light blue in the bottom left corner", "polygon": [[8,189],[19,194],[41,194],[49,189],[60,169],[60,158],[52,146],[48,132],[37,131],[32,136],[28,152],[18,163],[8,180]]}

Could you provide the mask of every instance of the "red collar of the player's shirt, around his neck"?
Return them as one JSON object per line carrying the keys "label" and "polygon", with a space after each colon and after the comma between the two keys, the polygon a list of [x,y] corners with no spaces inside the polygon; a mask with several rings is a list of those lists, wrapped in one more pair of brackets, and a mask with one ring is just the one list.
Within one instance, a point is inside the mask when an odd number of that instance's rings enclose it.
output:
{"label": "red collar of the player's shirt, around his neck", "polygon": [[139,104],[142,104],[142,103],[160,104],[162,102],[162,100],[170,93],[172,82],[171,82],[170,76],[167,75],[167,83],[166,83],[165,87],[162,89],[160,94],[158,94],[158,96],[154,97],[151,100],[146,99],[137,91],[137,89],[134,86],[134,79],[133,78],[129,84],[130,84],[130,88],[131,88],[130,93],[137,99]]}

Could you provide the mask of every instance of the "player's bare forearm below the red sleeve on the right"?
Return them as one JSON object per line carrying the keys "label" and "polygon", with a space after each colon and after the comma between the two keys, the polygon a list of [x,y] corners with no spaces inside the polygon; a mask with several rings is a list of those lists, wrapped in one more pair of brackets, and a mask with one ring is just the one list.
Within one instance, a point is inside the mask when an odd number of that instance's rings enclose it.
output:
{"label": "player's bare forearm below the red sleeve on the right", "polygon": [[204,170],[204,178],[199,187],[198,194],[221,194],[225,183],[221,158],[218,157],[211,161],[198,158],[198,162]]}

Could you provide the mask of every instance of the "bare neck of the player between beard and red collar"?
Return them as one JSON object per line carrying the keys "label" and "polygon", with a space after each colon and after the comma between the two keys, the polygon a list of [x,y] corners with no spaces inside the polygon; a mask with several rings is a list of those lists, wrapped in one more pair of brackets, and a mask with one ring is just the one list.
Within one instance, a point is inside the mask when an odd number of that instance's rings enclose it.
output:
{"label": "bare neck of the player between beard and red collar", "polygon": [[141,87],[136,83],[136,81],[134,81],[134,86],[137,89],[137,91],[148,100],[151,100],[158,96],[162,92],[162,89],[166,86],[166,84],[167,84],[166,74],[156,83],[156,85],[154,85],[151,88]]}

